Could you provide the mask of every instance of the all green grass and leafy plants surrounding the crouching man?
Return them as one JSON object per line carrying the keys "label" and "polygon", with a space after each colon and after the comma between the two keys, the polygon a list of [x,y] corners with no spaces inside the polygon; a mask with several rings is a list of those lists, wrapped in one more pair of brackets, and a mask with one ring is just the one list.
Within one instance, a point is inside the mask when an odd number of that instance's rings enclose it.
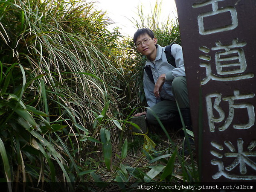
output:
{"label": "all green grass and leafy plants surrounding the crouching man", "polygon": [[[136,25],[152,28],[163,46],[180,43],[177,21],[159,26],[158,9]],[[9,191],[198,179],[163,126],[165,141],[131,136],[129,119],[145,103],[145,58],[118,28],[108,31],[111,23],[79,0],[0,2],[0,181]],[[144,143],[140,156],[133,140]]]}

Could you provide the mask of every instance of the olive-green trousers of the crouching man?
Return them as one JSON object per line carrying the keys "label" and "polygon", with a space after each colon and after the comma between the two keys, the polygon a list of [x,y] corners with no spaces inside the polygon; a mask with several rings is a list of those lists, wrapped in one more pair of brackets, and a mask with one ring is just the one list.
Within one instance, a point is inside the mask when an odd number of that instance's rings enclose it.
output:
{"label": "olive-green trousers of the crouching man", "polygon": [[[175,77],[172,81],[172,93],[180,107],[189,108],[189,96],[186,84],[186,77]],[[180,118],[175,100],[163,100],[147,110],[147,121],[158,124],[157,116],[163,124],[175,121]]]}

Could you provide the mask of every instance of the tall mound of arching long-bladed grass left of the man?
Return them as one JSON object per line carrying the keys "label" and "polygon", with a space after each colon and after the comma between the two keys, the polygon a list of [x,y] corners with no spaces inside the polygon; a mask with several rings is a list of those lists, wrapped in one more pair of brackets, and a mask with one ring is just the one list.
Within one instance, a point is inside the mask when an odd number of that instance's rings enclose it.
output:
{"label": "tall mound of arching long-bladed grass left of the man", "polygon": [[2,180],[73,189],[102,125],[117,140],[119,32],[83,1],[2,1],[0,15]]}

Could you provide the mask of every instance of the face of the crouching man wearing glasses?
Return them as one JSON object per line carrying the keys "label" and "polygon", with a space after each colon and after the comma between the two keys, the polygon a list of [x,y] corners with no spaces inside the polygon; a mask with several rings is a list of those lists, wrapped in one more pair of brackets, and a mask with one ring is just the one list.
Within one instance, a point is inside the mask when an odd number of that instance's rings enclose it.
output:
{"label": "face of the crouching man wearing glasses", "polygon": [[151,38],[148,34],[139,36],[136,41],[136,45],[139,45],[137,47],[138,51],[147,57],[151,57],[153,54],[156,54],[156,44],[157,39]]}

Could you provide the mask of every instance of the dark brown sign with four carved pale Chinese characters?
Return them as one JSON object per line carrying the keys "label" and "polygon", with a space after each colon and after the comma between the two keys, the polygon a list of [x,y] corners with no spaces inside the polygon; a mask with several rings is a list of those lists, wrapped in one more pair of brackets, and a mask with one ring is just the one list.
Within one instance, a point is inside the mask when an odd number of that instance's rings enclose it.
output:
{"label": "dark brown sign with four carved pale Chinese characters", "polygon": [[255,181],[256,0],[176,5],[201,181]]}

